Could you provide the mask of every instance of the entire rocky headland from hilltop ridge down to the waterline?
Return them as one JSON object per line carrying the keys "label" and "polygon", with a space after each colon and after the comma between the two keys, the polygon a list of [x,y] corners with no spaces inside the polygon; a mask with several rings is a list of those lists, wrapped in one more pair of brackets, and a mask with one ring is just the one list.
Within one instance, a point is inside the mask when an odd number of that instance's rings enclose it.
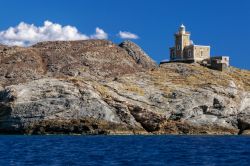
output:
{"label": "entire rocky headland from hilltop ridge down to the waterline", "polygon": [[130,41],[0,46],[0,132],[249,134],[250,71],[157,67]]}

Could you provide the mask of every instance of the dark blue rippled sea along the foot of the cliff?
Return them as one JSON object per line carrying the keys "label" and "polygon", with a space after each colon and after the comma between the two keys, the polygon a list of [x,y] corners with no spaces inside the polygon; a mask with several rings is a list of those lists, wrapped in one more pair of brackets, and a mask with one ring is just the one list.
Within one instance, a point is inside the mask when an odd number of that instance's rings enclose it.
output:
{"label": "dark blue rippled sea along the foot of the cliff", "polygon": [[247,136],[0,136],[5,165],[250,165]]}

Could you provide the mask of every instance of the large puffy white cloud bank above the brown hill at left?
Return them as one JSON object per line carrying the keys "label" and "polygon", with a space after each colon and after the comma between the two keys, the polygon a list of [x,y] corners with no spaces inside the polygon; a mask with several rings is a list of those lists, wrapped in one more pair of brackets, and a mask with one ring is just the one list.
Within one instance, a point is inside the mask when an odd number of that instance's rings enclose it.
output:
{"label": "large puffy white cloud bank above the brown hill at left", "polygon": [[86,39],[107,39],[108,34],[100,28],[96,33],[87,36],[80,33],[74,26],[62,26],[57,23],[45,21],[43,26],[35,26],[21,22],[16,27],[0,31],[0,43],[6,45],[30,46],[41,41],[55,40],[86,40]]}

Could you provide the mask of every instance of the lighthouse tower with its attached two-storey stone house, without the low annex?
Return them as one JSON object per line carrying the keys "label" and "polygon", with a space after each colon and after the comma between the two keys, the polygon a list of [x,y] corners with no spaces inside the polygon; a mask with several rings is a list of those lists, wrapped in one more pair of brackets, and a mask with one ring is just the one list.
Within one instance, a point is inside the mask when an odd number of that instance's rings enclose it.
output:
{"label": "lighthouse tower with its attached two-storey stone house, without the low annex", "polygon": [[170,61],[201,62],[210,58],[210,46],[194,45],[190,35],[182,24],[175,33],[175,46],[170,48]]}

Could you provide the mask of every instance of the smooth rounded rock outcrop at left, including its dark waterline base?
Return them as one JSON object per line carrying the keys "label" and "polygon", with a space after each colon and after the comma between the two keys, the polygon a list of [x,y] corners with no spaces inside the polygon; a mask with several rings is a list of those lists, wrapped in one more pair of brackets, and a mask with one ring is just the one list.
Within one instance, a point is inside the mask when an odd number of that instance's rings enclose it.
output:
{"label": "smooth rounded rock outcrop at left, including its dark waterline base", "polygon": [[40,79],[8,86],[0,93],[0,101],[2,132],[105,133],[104,129],[115,131],[114,126],[117,130],[121,128],[120,132],[126,132],[128,127],[142,130],[136,121],[123,123],[116,110],[104,102],[92,86],[84,83]]}

